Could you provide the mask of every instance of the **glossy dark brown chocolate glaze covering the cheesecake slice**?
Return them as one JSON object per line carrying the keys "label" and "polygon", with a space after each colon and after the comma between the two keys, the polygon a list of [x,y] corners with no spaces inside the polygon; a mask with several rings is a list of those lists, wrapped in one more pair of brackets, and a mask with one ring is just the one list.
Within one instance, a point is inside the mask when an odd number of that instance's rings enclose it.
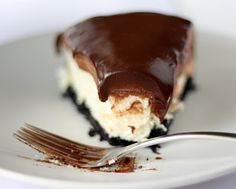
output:
{"label": "glossy dark brown chocolate glaze covering the cheesecake slice", "polygon": [[58,36],[90,72],[99,98],[140,95],[163,120],[176,78],[191,53],[192,24],[157,13],[128,13],[87,19]]}

